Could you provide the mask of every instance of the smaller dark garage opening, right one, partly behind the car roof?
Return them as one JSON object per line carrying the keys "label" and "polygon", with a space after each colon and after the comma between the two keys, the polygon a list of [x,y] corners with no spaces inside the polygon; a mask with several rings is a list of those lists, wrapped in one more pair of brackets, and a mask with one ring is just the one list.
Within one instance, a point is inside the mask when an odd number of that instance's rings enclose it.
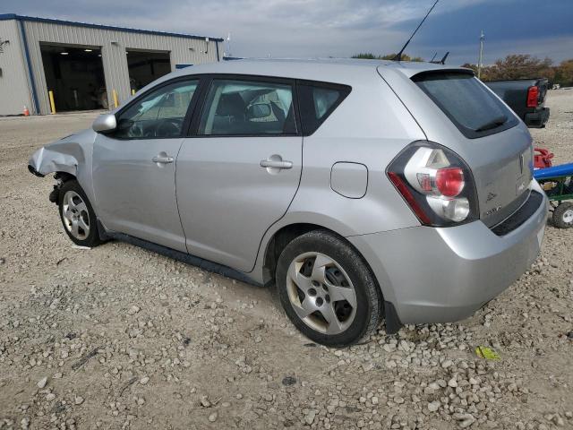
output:
{"label": "smaller dark garage opening, right one, partly behind the car roof", "polygon": [[126,54],[132,90],[140,90],[148,83],[171,73],[171,60],[168,52],[128,49]]}

